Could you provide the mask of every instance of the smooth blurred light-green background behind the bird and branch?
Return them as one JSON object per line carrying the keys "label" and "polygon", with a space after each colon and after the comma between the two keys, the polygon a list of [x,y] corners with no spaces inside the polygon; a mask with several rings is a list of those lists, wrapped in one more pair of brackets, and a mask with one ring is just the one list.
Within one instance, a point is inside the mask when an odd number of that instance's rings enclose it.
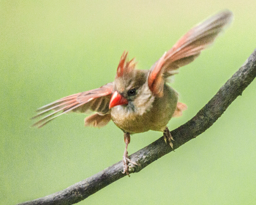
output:
{"label": "smooth blurred light-green background behind the bird and branch", "polygon": [[[232,25],[180,69],[172,86],[187,122],[256,48],[255,0],[0,1],[0,204],[55,193],[122,159],[113,122],[85,128],[83,114],[31,128],[36,108],[114,80],[124,50],[150,66],[195,24],[223,9]],[[255,204],[256,80],[206,132],[140,173],[79,204]],[[131,137],[129,154],[162,133]]]}

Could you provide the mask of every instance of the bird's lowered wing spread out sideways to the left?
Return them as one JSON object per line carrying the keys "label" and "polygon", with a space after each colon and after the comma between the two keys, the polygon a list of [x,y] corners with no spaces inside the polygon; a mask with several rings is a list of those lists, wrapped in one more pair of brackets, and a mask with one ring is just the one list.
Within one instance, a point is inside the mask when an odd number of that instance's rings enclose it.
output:
{"label": "bird's lowered wing spread out sideways to the left", "polygon": [[[109,102],[113,92],[113,83],[110,82],[98,89],[85,91],[69,95],[61,98],[57,101],[47,104],[46,106],[38,108],[38,114],[32,119],[43,116],[38,122],[32,126],[38,128],[43,127],[46,123],[52,119],[60,116],[64,113],[73,112],[86,112],[92,110],[97,112],[99,115],[106,115],[109,113]],[[48,114],[49,113],[49,114]]]}

